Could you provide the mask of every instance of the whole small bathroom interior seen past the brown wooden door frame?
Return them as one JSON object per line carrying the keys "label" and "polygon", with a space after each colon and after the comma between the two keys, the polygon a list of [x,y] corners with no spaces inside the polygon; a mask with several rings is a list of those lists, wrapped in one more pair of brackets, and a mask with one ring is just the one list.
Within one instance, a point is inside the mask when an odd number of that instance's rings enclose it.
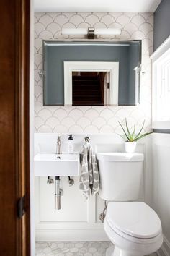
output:
{"label": "whole small bathroom interior seen past the brown wooden door frame", "polygon": [[32,2],[30,256],[170,256],[169,13]]}

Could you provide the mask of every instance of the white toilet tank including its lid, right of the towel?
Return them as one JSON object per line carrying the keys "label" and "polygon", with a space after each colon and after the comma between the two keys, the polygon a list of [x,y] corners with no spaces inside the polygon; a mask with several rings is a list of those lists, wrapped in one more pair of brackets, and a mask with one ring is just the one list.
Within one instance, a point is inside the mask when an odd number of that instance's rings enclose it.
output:
{"label": "white toilet tank including its lid, right of the towel", "polygon": [[99,196],[108,201],[135,201],[143,187],[142,153],[97,153]]}

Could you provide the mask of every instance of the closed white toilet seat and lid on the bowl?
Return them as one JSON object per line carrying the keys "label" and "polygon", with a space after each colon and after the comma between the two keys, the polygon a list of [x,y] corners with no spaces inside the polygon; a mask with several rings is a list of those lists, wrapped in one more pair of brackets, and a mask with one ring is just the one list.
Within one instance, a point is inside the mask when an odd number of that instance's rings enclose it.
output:
{"label": "closed white toilet seat and lid on the bowl", "polygon": [[145,202],[109,202],[106,218],[111,229],[134,242],[161,234],[161,221]]}

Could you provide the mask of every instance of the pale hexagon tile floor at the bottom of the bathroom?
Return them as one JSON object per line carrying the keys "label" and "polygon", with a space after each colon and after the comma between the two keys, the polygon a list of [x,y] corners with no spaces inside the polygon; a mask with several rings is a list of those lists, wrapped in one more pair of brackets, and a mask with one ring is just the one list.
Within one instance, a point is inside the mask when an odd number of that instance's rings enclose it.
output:
{"label": "pale hexagon tile floor at the bottom of the bathroom", "polygon": [[[110,242],[36,242],[36,256],[105,256]],[[156,256],[156,253],[148,256]]]}

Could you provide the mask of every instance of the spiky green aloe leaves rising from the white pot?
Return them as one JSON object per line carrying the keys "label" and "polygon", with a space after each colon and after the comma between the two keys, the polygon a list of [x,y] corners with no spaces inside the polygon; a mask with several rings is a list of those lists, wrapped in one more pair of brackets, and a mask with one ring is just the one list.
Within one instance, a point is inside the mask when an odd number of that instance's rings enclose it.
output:
{"label": "spiky green aloe leaves rising from the white pot", "polygon": [[[119,124],[120,124],[120,121],[119,121]],[[135,134],[135,125],[134,125],[134,127],[133,127],[133,132],[130,132],[130,129],[129,129],[129,127],[128,127],[127,119],[125,119],[125,127],[126,127],[126,130],[125,130],[125,128],[122,126],[122,124],[120,124],[120,127],[122,127],[122,130],[123,130],[123,132],[124,132],[124,134],[125,134],[125,137],[126,137],[126,139],[127,139],[126,141],[135,142],[135,141],[138,141],[138,140],[142,139],[143,137],[146,137],[147,135],[150,135],[152,132],[146,132],[146,133],[143,133],[143,134],[141,135],[141,132],[142,132],[143,127],[144,127],[144,124],[145,124],[145,120],[143,121],[143,125],[142,125],[140,131],[139,131],[137,134]],[[124,139],[124,137],[123,137],[122,135],[120,135],[120,136]]]}

